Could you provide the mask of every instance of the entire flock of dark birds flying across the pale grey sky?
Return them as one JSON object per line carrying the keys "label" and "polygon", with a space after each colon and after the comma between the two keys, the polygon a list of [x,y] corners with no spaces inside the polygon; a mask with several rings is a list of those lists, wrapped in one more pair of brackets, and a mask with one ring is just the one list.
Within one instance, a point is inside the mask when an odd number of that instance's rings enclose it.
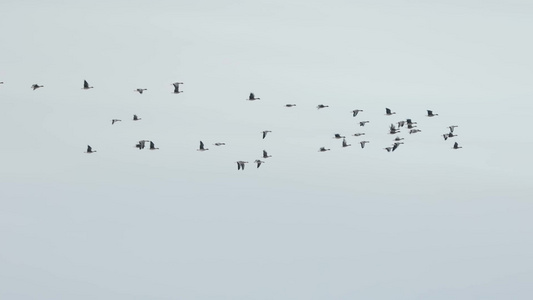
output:
{"label": "entire flock of dark birds flying across the pale grey sky", "polygon": [[[0,84],[4,84],[4,82],[0,82]],[[173,93],[174,94],[179,94],[179,93],[183,93],[182,90],[180,90],[180,86],[183,84],[183,82],[175,82],[175,83],[172,83],[172,85],[174,86],[174,91]],[[39,85],[39,84],[33,84],[31,86],[31,88],[35,91],[39,88],[42,88],[44,87],[43,85]],[[83,88],[84,90],[88,90],[88,89],[92,89],[93,87],[89,85],[89,83],[84,80],[83,81]],[[137,92],[139,94],[143,94],[144,91],[147,91],[148,89],[145,89],[145,88],[138,88],[138,89],[135,89],[134,92]],[[256,100],[260,100],[261,98],[258,98],[255,96],[254,93],[250,93],[250,95],[248,96],[248,98],[246,100],[248,101],[256,101]],[[285,107],[295,107],[296,104],[285,104]],[[324,105],[324,104],[319,104],[317,105],[317,109],[324,109],[324,108],[328,108],[329,106],[328,105]],[[363,112],[362,109],[354,109],[352,111],[352,116],[353,117],[356,117],[359,115],[359,113]],[[395,115],[396,112],[393,112],[391,109],[389,108],[385,108],[385,115],[387,116],[392,116],[392,115]],[[436,117],[438,116],[438,114],[435,114],[433,113],[432,110],[427,110],[427,117]],[[140,121],[141,118],[139,118],[137,115],[133,115],[133,121]],[[111,125],[114,125],[115,123],[117,122],[121,122],[122,120],[120,119],[112,119],[111,120]],[[363,120],[363,121],[359,121],[359,126],[360,127],[364,127],[366,124],[368,124],[370,121],[367,121],[367,120]],[[447,128],[449,129],[448,132],[442,134],[443,138],[445,141],[447,141],[449,138],[454,138],[456,137],[457,135],[454,133],[454,129],[457,128],[458,126],[457,125],[450,125],[448,126]],[[395,134],[398,134],[400,133],[400,128],[407,128],[409,130],[409,134],[416,134],[416,133],[419,133],[421,132],[422,130],[420,130],[418,127],[417,127],[417,122],[414,122],[412,119],[405,119],[405,120],[400,120],[400,121],[397,121],[396,124],[394,123],[391,123],[390,126],[389,126],[389,134],[390,135],[395,135]],[[262,137],[263,139],[265,139],[268,135],[268,133],[271,133],[272,131],[270,130],[264,130],[262,131]],[[360,137],[360,136],[363,136],[365,135],[365,133],[354,133],[352,134],[352,136],[355,136],[355,137]],[[333,135],[333,138],[334,139],[342,139],[342,147],[343,148],[346,148],[346,147],[350,147],[351,144],[348,144],[348,142],[346,141],[346,136],[343,136],[339,133],[335,133]],[[387,146],[385,148],[383,148],[384,150],[386,150],[387,152],[394,152],[395,150],[398,149],[398,147],[403,144],[404,138],[402,137],[399,137],[397,136],[394,140],[393,140],[393,144],[390,145],[390,146]],[[136,145],[135,147],[138,148],[139,150],[142,150],[145,148],[146,146],[146,143],[149,143],[149,150],[158,150],[159,148],[156,148],[155,147],[155,144],[153,141],[150,141],[150,140],[140,140]],[[359,144],[361,145],[361,148],[364,149],[365,148],[365,145],[370,143],[370,141],[367,141],[367,140],[363,140],[363,141],[360,141]],[[226,145],[225,143],[221,143],[221,142],[217,142],[215,144],[213,144],[215,146],[224,146]],[[455,142],[452,146],[452,149],[460,149],[462,148],[461,146],[459,146],[459,143],[458,142]],[[197,149],[197,151],[207,151],[209,150],[209,148],[206,148],[204,143],[202,141],[200,141],[200,145]],[[326,147],[320,147],[319,148],[319,152],[326,152],[326,151],[330,151],[331,149],[328,149]],[[85,153],[95,153],[97,152],[96,150],[93,150],[93,148],[90,146],[90,145],[87,145],[87,151]],[[263,156],[262,158],[263,159],[267,159],[267,158],[270,158],[272,157],[271,155],[268,154],[267,151],[263,150]],[[248,161],[243,161],[243,160],[239,160],[236,162],[237,163],[237,170],[244,170],[244,166],[245,164],[248,163]],[[256,164],[257,168],[259,168],[261,166],[261,164],[264,163],[264,161],[262,161],[261,159],[256,159],[254,161],[254,163]]]}

